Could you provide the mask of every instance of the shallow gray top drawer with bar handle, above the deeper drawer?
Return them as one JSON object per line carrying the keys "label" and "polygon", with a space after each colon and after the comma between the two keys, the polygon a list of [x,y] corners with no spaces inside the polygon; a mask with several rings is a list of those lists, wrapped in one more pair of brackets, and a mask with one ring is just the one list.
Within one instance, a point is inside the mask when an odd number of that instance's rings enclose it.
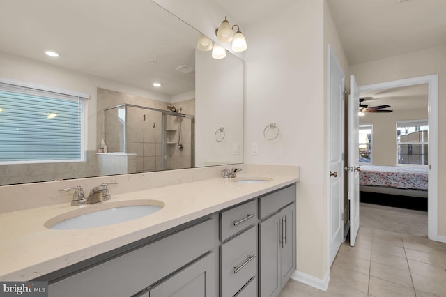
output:
{"label": "shallow gray top drawer with bar handle, above the deeper drawer", "polygon": [[257,199],[220,213],[220,241],[257,223]]}

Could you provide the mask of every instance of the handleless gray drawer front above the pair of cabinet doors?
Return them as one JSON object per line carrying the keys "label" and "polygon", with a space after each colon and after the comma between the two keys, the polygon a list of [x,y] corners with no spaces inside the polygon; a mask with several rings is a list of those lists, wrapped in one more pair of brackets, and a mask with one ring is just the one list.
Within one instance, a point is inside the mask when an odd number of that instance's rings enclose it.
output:
{"label": "handleless gray drawer front above the pair of cabinet doors", "polygon": [[259,218],[266,218],[271,213],[295,201],[295,184],[259,198]]}

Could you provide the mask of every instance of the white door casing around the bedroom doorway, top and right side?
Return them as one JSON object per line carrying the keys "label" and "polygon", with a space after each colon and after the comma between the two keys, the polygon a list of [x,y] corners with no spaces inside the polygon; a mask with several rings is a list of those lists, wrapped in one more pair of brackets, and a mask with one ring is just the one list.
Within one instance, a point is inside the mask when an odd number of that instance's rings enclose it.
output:
{"label": "white door casing around the bedroom doorway, top and right side", "polygon": [[415,84],[428,85],[429,123],[429,185],[427,201],[428,237],[433,241],[446,242],[445,236],[438,236],[438,75],[426,75],[399,79],[391,82],[359,86],[359,91],[377,91]]}

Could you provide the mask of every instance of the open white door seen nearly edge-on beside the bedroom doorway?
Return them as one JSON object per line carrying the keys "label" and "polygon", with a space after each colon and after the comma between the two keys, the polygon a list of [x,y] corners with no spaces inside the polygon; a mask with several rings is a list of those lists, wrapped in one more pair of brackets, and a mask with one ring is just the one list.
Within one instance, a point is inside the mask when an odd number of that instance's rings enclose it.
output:
{"label": "open white door seen nearly edge-on beside the bedroom doorway", "polygon": [[348,201],[350,201],[350,245],[354,246],[360,229],[360,151],[358,114],[360,94],[356,80],[350,77],[348,98]]}

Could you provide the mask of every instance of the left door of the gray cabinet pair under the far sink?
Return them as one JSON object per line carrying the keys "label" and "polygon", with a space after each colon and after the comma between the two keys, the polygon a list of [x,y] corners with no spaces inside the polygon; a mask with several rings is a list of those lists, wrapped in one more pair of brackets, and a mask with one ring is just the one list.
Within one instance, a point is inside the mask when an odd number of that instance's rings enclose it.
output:
{"label": "left door of the gray cabinet pair under the far sink", "polygon": [[279,214],[259,224],[259,296],[279,295]]}

